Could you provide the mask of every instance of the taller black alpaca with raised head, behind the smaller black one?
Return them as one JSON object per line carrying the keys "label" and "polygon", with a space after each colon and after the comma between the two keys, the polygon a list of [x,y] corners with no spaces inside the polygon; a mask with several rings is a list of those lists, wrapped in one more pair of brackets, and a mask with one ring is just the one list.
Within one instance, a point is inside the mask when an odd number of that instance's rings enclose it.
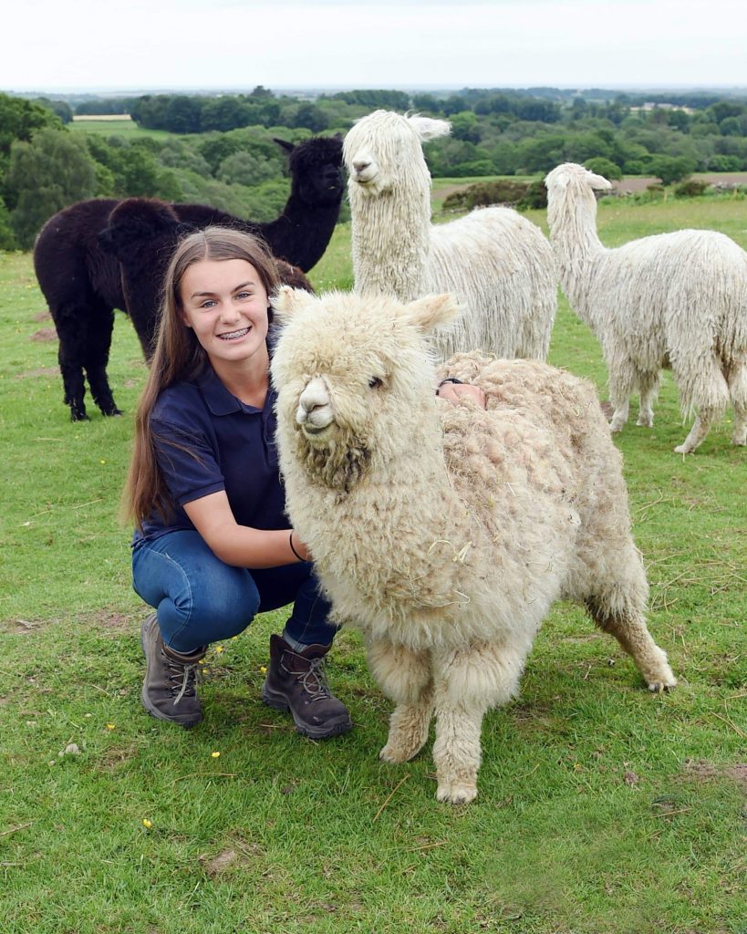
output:
{"label": "taller black alpaca with raised head, behind the smaller black one", "polygon": [[[237,227],[265,238],[276,257],[298,266],[303,272],[315,265],[327,248],[340,213],[344,191],[342,140],[339,136],[315,137],[297,146],[275,140],[289,152],[291,189],[279,218],[252,223],[206,205],[163,205],[171,207],[176,220],[206,227],[210,224]],[[139,199],[145,200],[145,199]],[[63,376],[64,402],[70,406],[73,421],[87,418],[83,401],[84,374],[88,377],[94,402],[104,415],[120,415],[106,378],[114,309],[132,314],[122,290],[120,264],[116,253],[107,251],[98,234],[119,204],[112,199],[81,201],[64,208],[49,219],[36,238],[34,266],[60,341],[59,361]],[[154,220],[151,214],[150,221]],[[162,213],[161,221],[173,224],[174,217]],[[151,228],[148,238],[163,235],[164,243],[174,230]],[[154,257],[150,268],[164,268],[162,257]],[[286,270],[290,276],[289,270]],[[152,275],[152,273],[151,273]],[[147,303],[142,303],[143,308]],[[157,306],[157,305],[156,305]],[[140,311],[134,311],[135,317]],[[148,347],[155,327],[153,307],[142,312],[138,336],[148,358]],[[136,325],[137,327],[137,325]],[[148,335],[148,327],[150,333]]]}

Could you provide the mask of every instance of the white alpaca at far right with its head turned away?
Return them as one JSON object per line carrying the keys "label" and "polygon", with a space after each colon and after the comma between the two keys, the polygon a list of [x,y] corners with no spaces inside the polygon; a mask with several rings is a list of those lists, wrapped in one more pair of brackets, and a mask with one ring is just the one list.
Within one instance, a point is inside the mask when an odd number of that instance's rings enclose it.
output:
{"label": "white alpaca at far right with its head turned away", "polygon": [[599,338],[610,375],[612,430],[641,396],[638,424],[654,424],[663,368],[671,367],[683,417],[696,412],[689,454],[734,406],[735,445],[747,443],[747,253],[723,233],[657,233],[607,249],[594,191],[606,178],[564,163],[545,178],[550,240],[571,306]]}

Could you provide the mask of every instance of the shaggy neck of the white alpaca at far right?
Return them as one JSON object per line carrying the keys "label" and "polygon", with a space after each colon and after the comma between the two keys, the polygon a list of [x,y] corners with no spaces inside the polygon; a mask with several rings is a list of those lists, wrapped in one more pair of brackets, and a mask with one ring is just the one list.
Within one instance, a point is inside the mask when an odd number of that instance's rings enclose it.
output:
{"label": "shaggy neck of the white alpaca at far right", "polygon": [[551,199],[547,209],[550,242],[555,251],[560,284],[576,314],[595,327],[589,290],[594,272],[607,253],[597,233],[597,202],[590,198],[564,195]]}

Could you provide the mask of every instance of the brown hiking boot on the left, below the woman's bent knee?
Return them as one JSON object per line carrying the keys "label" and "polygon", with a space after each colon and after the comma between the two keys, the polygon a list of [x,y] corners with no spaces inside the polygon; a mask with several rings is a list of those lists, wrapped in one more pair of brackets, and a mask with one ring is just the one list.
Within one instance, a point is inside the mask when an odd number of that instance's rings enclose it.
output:
{"label": "brown hiking boot on the left, below the woman's bent knee", "polygon": [[140,644],[146,657],[143,706],[160,720],[171,720],[190,729],[203,718],[203,709],[194,687],[198,663],[207,646],[191,655],[180,655],[163,644],[158,616],[151,613],[140,630]]}

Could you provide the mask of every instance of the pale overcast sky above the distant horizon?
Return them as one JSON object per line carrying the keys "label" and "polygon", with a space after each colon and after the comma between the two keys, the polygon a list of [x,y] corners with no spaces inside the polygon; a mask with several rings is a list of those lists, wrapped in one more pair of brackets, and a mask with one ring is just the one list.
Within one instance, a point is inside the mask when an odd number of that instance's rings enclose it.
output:
{"label": "pale overcast sky above the distant horizon", "polygon": [[15,0],[4,21],[6,92],[747,85],[744,0]]}

